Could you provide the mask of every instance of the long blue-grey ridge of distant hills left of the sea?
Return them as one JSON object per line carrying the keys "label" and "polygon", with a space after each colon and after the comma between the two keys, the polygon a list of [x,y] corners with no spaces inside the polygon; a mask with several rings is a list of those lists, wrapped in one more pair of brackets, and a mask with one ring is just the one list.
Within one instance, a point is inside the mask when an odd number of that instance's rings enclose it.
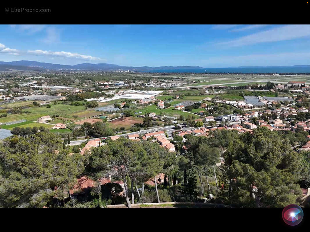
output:
{"label": "long blue-grey ridge of distant hills left of the sea", "polygon": [[11,65],[11,66],[24,66],[24,67],[37,67],[44,69],[72,69],[72,70],[106,70],[106,71],[115,71],[115,70],[130,70],[130,71],[152,71],[152,70],[164,70],[164,69],[203,69],[203,67],[199,66],[161,66],[161,67],[128,67],[128,66],[119,66],[116,64],[90,64],[90,63],[82,63],[76,65],[62,65],[62,64],[52,64],[52,63],[43,63],[37,61],[28,61],[28,60],[20,60],[20,61],[12,61],[12,62],[3,62],[0,61],[0,65]]}

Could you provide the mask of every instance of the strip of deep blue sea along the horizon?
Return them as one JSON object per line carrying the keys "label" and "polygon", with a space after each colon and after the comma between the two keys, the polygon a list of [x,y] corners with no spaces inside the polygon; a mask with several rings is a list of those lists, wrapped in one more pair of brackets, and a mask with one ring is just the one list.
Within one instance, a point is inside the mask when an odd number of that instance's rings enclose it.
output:
{"label": "strip of deep blue sea along the horizon", "polygon": [[310,67],[230,67],[204,69],[161,69],[152,73],[310,73]]}

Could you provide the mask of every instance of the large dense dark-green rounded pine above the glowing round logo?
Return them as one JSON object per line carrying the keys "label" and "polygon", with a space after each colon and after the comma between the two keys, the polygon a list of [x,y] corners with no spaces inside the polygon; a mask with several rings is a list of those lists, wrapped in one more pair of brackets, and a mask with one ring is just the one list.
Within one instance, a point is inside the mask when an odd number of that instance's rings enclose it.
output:
{"label": "large dense dark-green rounded pine above the glowing round logo", "polygon": [[302,154],[290,149],[275,131],[265,127],[230,141],[223,154],[228,203],[256,207],[296,204],[297,184],[308,173]]}

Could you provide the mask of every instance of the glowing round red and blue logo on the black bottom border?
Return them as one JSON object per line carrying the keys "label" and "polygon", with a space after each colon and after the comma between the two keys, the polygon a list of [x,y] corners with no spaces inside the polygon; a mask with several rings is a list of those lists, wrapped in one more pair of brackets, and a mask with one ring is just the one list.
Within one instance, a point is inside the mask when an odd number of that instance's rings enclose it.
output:
{"label": "glowing round red and blue logo on the black bottom border", "polygon": [[303,220],[303,210],[297,204],[289,204],[282,211],[283,221],[290,226],[296,226]]}

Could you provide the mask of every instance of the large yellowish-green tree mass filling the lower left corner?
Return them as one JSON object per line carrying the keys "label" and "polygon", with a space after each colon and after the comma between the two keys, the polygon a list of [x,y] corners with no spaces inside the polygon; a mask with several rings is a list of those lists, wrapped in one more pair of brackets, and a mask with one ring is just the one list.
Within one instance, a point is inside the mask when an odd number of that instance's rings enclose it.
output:
{"label": "large yellowish-green tree mass filling the lower left corner", "polygon": [[[43,207],[68,197],[84,169],[80,154],[68,156],[52,133],[7,138],[0,144],[0,206]],[[57,188],[55,189],[55,186]]]}

